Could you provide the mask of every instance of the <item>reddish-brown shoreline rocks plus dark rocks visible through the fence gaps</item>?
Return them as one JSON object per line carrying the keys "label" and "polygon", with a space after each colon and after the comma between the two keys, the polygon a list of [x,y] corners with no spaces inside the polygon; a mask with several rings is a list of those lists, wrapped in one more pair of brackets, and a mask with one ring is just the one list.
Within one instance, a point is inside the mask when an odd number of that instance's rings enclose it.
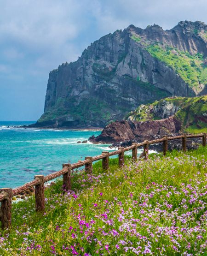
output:
{"label": "reddish-brown shoreline rocks plus dark rocks visible through the fence gaps", "polygon": [[[144,122],[116,121],[107,125],[97,137],[90,137],[92,143],[112,143],[111,147],[128,147],[132,143],[141,143],[145,140],[159,139],[164,136],[177,136],[180,133],[181,124],[175,117],[161,120],[149,120]],[[201,143],[200,138],[187,140],[187,149],[197,149]],[[150,145],[150,149],[160,152],[162,143]],[[182,140],[168,142],[168,150],[182,149]]]}

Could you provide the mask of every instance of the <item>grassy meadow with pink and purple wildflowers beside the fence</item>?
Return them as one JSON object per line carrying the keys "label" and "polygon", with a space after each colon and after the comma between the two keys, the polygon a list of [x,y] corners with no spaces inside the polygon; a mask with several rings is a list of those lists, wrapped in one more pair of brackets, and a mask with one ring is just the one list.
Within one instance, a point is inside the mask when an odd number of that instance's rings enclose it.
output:
{"label": "grassy meadow with pink and purple wildflowers beside the fence", "polygon": [[207,147],[109,166],[50,185],[43,214],[34,197],[13,203],[0,255],[207,255]]}

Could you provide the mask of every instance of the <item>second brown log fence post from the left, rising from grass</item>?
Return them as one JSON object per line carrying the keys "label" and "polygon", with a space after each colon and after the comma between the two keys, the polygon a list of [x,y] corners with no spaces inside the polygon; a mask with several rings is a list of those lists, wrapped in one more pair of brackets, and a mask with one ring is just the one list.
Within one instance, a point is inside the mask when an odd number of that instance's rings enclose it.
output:
{"label": "second brown log fence post from the left, rising from grass", "polygon": [[35,185],[35,208],[37,212],[42,212],[45,210],[44,175],[35,175],[35,179],[40,181],[38,185]]}

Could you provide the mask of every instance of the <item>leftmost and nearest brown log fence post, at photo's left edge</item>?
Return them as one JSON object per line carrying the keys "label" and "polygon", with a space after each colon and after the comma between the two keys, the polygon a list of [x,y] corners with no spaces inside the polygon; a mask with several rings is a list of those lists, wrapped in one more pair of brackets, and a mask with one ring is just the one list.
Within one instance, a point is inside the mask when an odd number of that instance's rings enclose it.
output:
{"label": "leftmost and nearest brown log fence post, at photo's left edge", "polygon": [[5,188],[0,189],[0,192],[6,193],[6,199],[1,201],[1,228],[6,229],[11,227],[11,198],[12,198],[12,189]]}

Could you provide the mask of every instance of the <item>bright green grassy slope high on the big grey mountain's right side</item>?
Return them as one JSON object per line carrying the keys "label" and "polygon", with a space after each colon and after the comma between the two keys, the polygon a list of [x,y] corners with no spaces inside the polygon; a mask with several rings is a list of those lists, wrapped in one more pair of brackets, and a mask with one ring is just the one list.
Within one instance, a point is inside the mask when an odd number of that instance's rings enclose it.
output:
{"label": "bright green grassy slope high on the big grey mountain's right side", "polygon": [[179,51],[161,42],[145,42],[140,36],[133,34],[132,40],[139,43],[154,58],[164,62],[181,77],[185,83],[196,91],[207,84],[207,60],[202,54],[190,54]]}

